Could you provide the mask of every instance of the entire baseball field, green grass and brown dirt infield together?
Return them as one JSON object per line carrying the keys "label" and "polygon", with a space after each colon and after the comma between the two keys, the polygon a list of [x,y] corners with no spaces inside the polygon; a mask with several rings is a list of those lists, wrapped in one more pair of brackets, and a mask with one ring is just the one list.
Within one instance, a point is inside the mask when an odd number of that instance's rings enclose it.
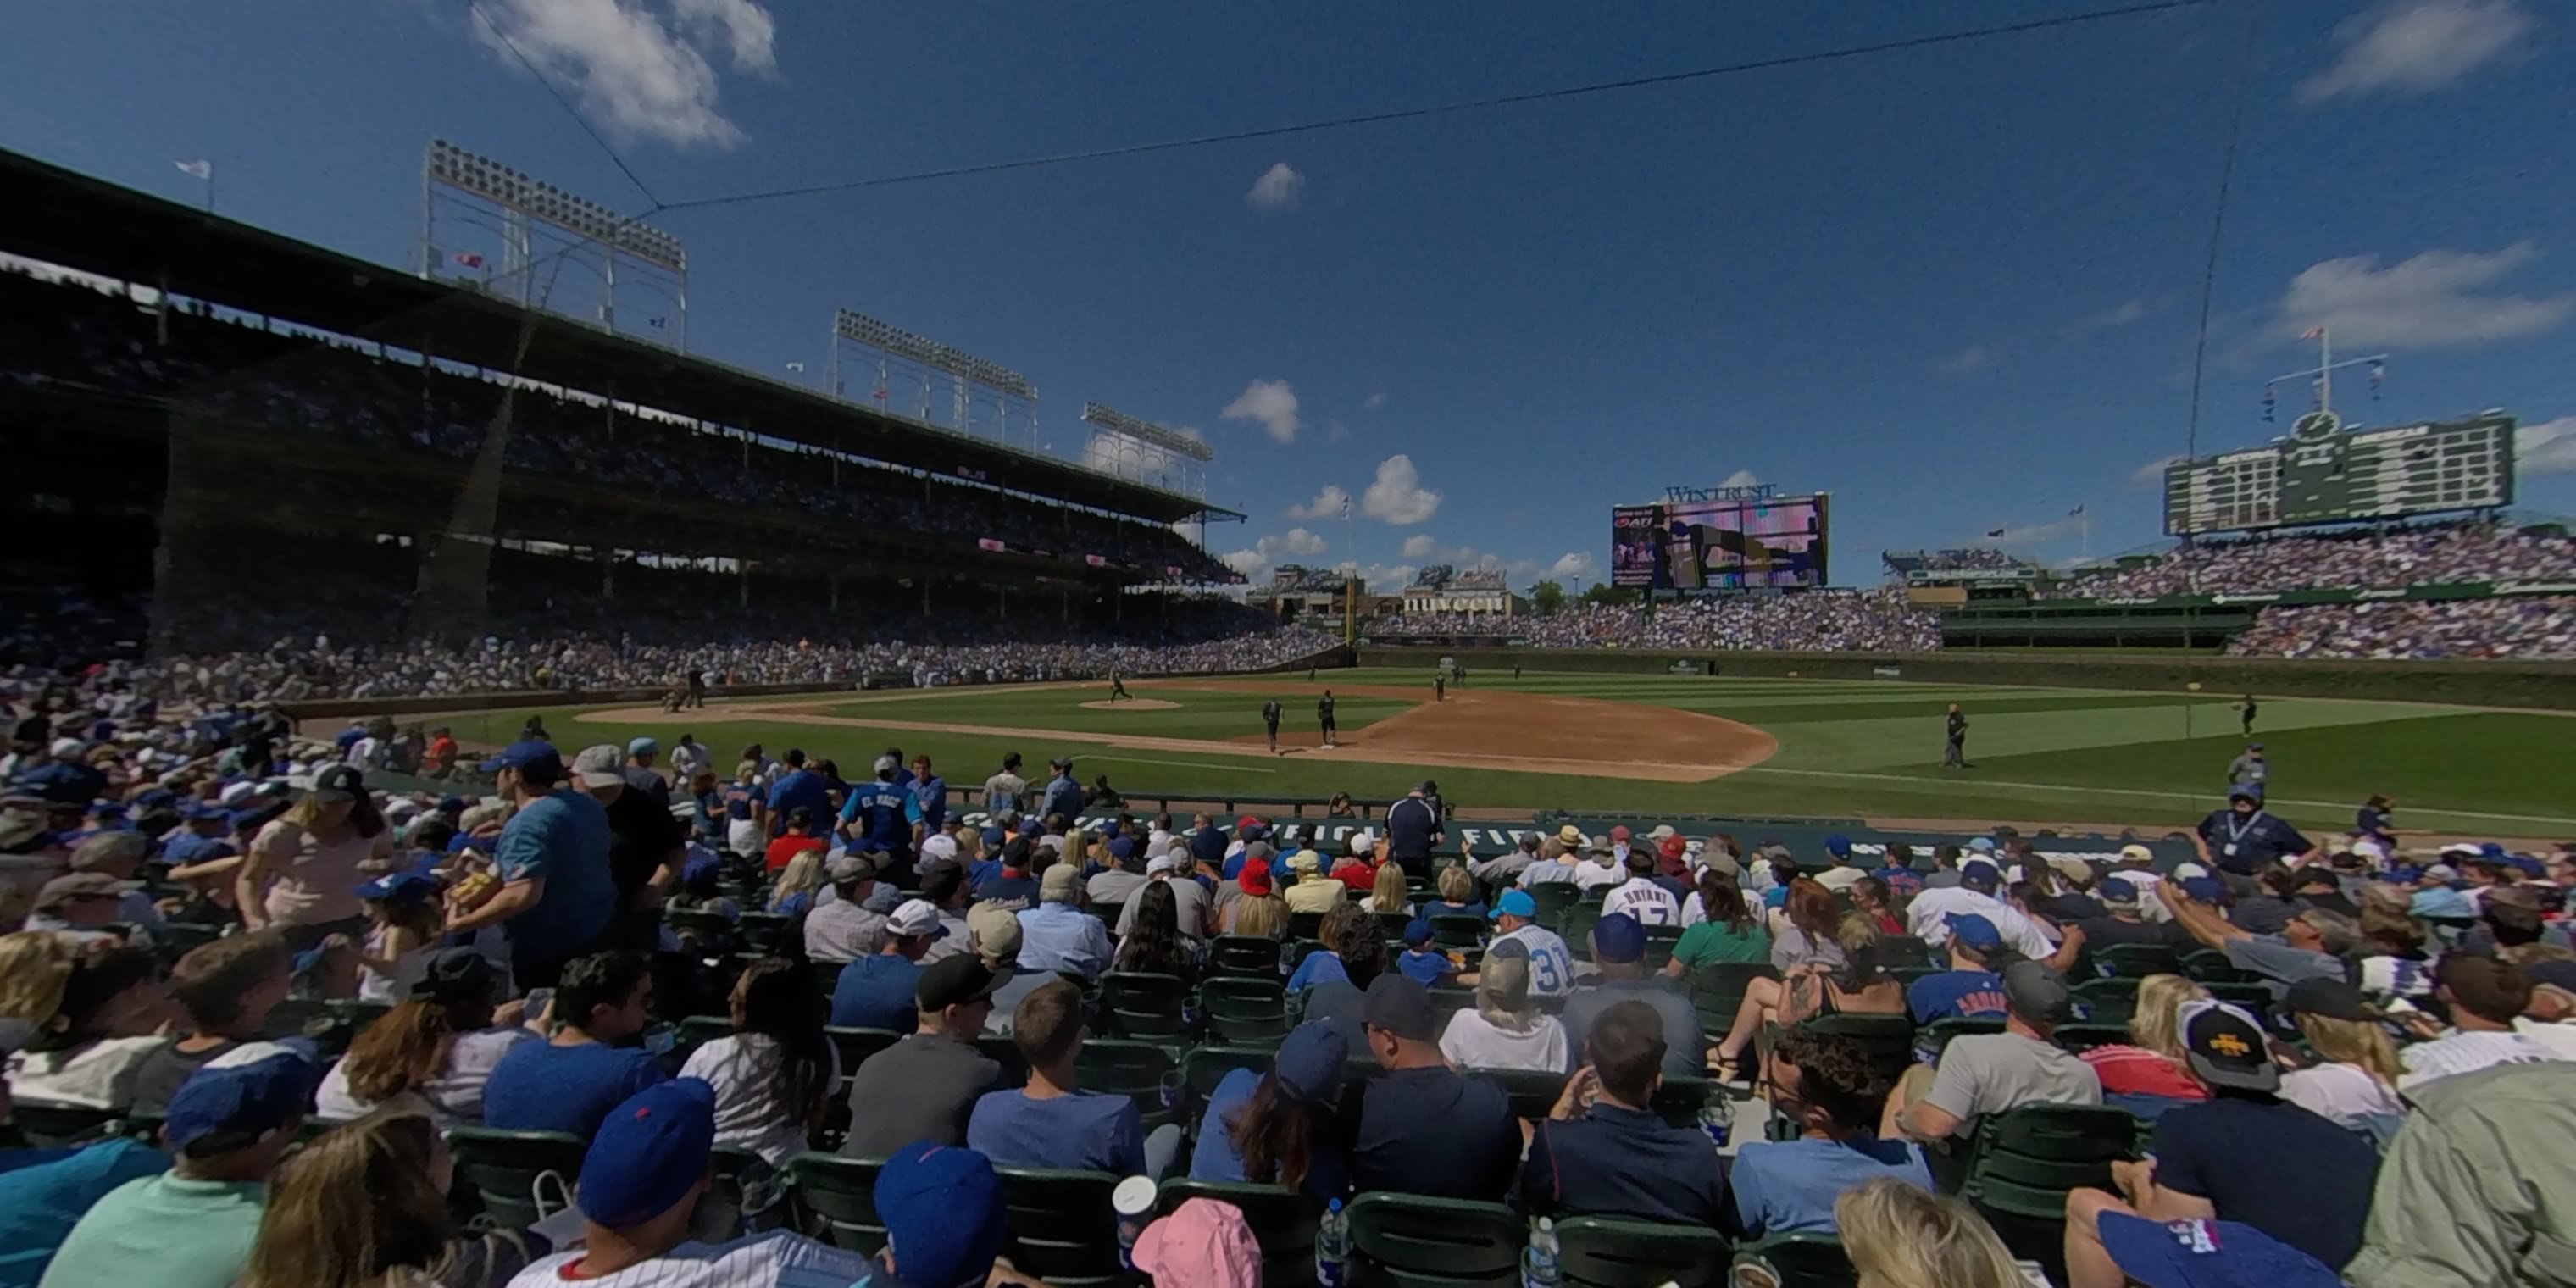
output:
{"label": "entire baseball field, green grass and brown dirt infield together", "polygon": [[[1334,693],[1340,747],[1316,737]],[[760,742],[804,747],[850,778],[886,747],[927,752],[956,786],[1005,752],[1043,778],[1072,755],[1090,783],[1190,801],[1401,796],[1437,778],[1455,809],[1862,817],[1873,822],[2089,824],[2166,829],[2226,791],[2244,750],[2233,696],[1963,688],[1899,680],[1476,672],[1435,701],[1419,670],[1327,670],[1211,680],[894,690],[549,711],[564,747],[690,732],[719,770]],[[1280,752],[1262,734],[1278,698]],[[1942,711],[1968,714],[1968,765],[1942,768]],[[461,739],[507,742],[526,711],[448,716]],[[2272,809],[2349,827],[2370,793],[2401,829],[2558,840],[2576,835],[2563,747],[2576,716],[2434,703],[2264,698],[2254,739]]]}

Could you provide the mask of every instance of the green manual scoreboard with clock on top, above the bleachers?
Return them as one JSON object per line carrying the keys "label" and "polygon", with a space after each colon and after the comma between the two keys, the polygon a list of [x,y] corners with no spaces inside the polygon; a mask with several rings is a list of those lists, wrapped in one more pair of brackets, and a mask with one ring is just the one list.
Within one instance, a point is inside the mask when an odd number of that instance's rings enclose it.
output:
{"label": "green manual scoreboard with clock on top, above the bleachers", "polygon": [[2169,536],[2494,510],[2514,502],[2514,417],[2349,430],[2308,412],[2272,446],[2164,466]]}

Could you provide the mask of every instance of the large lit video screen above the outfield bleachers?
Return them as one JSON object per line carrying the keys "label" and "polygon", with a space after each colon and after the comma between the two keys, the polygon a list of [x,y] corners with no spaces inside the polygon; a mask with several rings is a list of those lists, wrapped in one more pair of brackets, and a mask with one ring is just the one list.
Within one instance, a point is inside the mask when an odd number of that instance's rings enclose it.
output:
{"label": "large lit video screen above the outfield bleachers", "polygon": [[1690,500],[1610,510],[1610,585],[1752,590],[1824,585],[1826,497]]}

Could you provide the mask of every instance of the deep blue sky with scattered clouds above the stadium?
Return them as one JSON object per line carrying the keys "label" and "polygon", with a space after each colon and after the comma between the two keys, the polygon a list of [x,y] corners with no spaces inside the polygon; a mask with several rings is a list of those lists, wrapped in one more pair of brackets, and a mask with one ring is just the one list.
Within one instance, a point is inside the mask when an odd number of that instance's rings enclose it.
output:
{"label": "deep blue sky with scattered clouds above the stadium", "polygon": [[[2092,8],[2092,5],[2087,5]],[[2105,5],[2107,8],[2107,5]],[[2053,0],[827,5],[482,0],[662,201],[1618,80]],[[2362,420],[2509,407],[2576,510],[2576,10],[2262,5],[2200,443],[2326,322]],[[2241,3],[1244,144],[657,216],[690,343],[819,371],[835,307],[1200,430],[1262,572],[1592,580],[1607,510],[1744,477],[1886,546],[2141,549],[2182,451]],[[459,3],[23,5],[0,144],[384,263],[420,147],[644,198]],[[2354,381],[2357,384],[2357,381]],[[2285,407],[2306,392],[2282,386]],[[2287,417],[2285,417],[2287,420]],[[1340,492],[1332,492],[1340,489]],[[1340,495],[1355,497],[1352,520]],[[1293,510],[1293,513],[1291,513]],[[1311,518],[1319,515],[1319,518]]]}

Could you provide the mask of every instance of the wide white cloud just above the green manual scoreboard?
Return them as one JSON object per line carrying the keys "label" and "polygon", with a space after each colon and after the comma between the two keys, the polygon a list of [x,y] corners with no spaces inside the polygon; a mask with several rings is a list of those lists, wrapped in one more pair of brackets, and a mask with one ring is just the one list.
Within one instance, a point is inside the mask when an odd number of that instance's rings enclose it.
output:
{"label": "wide white cloud just above the green manual scoreboard", "polygon": [[2313,263],[2290,278],[2272,332],[2293,340],[2308,327],[2329,327],[2336,345],[2476,345],[2537,335],[2566,322],[2576,294],[2478,294],[2535,255],[2532,242],[2514,242],[2494,255],[2427,250],[2388,268],[2378,255]]}

